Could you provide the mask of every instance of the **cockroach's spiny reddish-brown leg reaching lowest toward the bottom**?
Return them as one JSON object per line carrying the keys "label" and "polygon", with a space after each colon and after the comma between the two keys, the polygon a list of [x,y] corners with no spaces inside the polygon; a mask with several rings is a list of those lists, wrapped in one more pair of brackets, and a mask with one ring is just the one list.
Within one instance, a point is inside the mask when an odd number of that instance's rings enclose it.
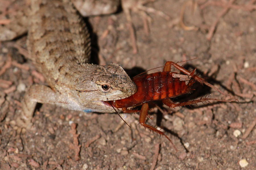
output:
{"label": "cockroach's spiny reddish-brown leg reaching lowest toward the bottom", "polygon": [[174,149],[176,150],[176,152],[178,152],[178,150],[175,147],[175,145],[173,144],[172,140],[167,135],[165,135],[164,132],[161,132],[161,131],[157,130],[156,128],[145,123],[145,119],[146,119],[147,115],[148,115],[148,103],[144,103],[141,107],[140,124],[142,126],[144,126],[145,128],[148,128],[148,129],[152,130],[153,132],[156,132],[156,133],[166,137],[171,142],[171,144],[174,147]]}

